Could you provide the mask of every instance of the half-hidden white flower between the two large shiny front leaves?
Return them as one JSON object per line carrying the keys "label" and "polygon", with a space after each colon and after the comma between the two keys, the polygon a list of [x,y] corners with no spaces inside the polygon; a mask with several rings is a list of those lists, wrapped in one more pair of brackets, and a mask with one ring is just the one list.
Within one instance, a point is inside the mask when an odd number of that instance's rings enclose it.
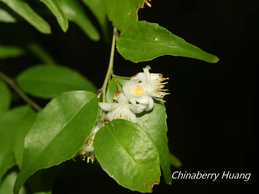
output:
{"label": "half-hidden white flower between the two large shiny front leaves", "polygon": [[77,154],[76,154],[76,156],[81,155],[82,160],[85,160],[85,158],[87,157],[87,163],[89,162],[89,160],[91,160],[93,163],[93,161],[95,160],[93,139],[95,138],[95,134],[97,133],[97,131],[103,126],[102,122],[99,123],[100,118],[102,117],[102,113],[103,113],[103,111],[102,111],[102,109],[100,109],[98,119],[96,121],[95,126],[92,129],[91,135],[87,138],[87,140],[85,141],[85,144],[81,148],[81,150],[79,152],[77,152]]}

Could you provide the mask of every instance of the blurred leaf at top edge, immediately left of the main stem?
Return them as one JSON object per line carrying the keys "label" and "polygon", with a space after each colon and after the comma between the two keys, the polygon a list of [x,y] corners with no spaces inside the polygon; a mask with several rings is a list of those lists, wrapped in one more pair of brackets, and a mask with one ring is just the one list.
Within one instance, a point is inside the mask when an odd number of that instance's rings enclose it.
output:
{"label": "blurred leaf at top edge, immediately left of the main stem", "polygon": [[105,0],[82,0],[98,20],[106,40],[109,40],[109,22],[106,16]]}

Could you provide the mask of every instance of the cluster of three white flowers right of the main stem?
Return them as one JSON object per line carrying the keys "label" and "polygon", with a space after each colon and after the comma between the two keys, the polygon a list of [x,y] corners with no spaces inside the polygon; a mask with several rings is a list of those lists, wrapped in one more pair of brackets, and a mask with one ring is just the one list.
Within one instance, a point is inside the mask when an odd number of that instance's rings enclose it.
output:
{"label": "cluster of three white flowers right of the main stem", "polygon": [[122,87],[123,92],[114,103],[99,102],[101,109],[109,111],[106,114],[108,120],[121,118],[138,123],[135,113],[152,110],[154,99],[163,101],[161,98],[169,94],[165,92],[168,89],[163,89],[168,83],[163,81],[169,78],[163,78],[159,73],[149,73],[149,69],[150,67],[146,66],[143,72],[125,83]]}

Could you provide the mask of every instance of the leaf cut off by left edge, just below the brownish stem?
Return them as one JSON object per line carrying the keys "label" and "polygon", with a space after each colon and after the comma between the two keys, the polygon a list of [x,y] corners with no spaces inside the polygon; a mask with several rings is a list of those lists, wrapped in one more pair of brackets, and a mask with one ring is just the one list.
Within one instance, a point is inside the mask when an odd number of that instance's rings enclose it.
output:
{"label": "leaf cut off by left edge, just below the brownish stem", "polygon": [[0,80],[0,116],[9,109],[11,104],[11,93],[8,86]]}

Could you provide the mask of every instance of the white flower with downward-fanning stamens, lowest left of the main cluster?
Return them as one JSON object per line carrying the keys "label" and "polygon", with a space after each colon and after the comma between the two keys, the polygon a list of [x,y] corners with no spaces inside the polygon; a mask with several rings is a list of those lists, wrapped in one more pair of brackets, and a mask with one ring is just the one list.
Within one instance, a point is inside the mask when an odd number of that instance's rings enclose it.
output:
{"label": "white flower with downward-fanning stamens, lowest left of the main cluster", "polygon": [[109,111],[106,114],[108,120],[117,118],[125,119],[133,123],[138,123],[135,113],[141,113],[143,111],[139,105],[129,104],[129,100],[124,93],[120,93],[118,96],[118,103],[104,103],[99,102],[101,109]]}

